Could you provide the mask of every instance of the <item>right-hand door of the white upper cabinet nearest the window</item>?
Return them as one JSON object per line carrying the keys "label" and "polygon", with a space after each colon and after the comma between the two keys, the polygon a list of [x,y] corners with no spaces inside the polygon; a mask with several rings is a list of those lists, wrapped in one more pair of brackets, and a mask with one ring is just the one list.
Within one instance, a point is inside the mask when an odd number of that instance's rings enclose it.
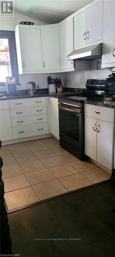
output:
{"label": "right-hand door of the white upper cabinet nearest the window", "polygon": [[41,28],[43,70],[60,69],[59,26]]}

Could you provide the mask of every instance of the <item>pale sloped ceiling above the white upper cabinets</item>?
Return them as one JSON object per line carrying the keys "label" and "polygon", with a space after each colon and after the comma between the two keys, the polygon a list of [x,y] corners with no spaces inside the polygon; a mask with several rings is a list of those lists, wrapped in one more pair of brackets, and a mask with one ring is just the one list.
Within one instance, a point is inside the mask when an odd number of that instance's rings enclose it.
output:
{"label": "pale sloped ceiling above the white upper cabinets", "polygon": [[59,23],[93,0],[14,0],[15,12],[46,24]]}

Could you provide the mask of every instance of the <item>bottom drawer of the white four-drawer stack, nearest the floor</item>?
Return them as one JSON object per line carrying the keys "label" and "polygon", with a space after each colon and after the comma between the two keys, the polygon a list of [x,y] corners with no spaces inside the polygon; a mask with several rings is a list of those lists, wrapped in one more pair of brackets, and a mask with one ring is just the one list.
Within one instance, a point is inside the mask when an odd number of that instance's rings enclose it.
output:
{"label": "bottom drawer of the white four-drawer stack, nearest the floor", "polygon": [[48,134],[48,123],[13,127],[12,132],[13,139]]}

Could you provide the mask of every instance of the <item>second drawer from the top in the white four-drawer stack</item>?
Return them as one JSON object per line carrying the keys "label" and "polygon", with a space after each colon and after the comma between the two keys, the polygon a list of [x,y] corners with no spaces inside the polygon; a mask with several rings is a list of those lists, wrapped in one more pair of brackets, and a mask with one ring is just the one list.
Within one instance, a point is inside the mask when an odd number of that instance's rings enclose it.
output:
{"label": "second drawer from the top in the white four-drawer stack", "polygon": [[47,106],[11,109],[11,118],[47,114]]}

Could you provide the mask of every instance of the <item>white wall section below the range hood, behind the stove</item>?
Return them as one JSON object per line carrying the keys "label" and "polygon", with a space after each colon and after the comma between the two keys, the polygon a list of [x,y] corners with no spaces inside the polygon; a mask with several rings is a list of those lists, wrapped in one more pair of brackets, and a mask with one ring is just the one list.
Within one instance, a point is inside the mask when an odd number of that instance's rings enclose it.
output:
{"label": "white wall section below the range hood, behind the stove", "polygon": [[111,71],[97,70],[97,60],[93,61],[76,61],[77,71],[65,72],[63,74],[63,84],[65,87],[85,88],[87,79],[107,78]]}

